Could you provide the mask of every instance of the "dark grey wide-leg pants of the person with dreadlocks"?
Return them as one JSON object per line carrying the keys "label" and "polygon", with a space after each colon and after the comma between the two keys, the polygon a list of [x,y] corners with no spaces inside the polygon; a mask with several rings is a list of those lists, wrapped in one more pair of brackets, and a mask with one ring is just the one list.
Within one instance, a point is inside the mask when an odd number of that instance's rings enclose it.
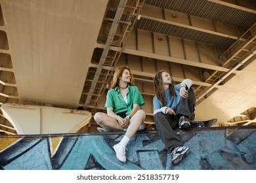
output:
{"label": "dark grey wide-leg pants of the person with dreadlocks", "polygon": [[190,120],[194,120],[194,107],[196,104],[196,97],[192,88],[188,90],[188,98],[181,98],[177,108],[174,108],[176,115],[165,115],[163,112],[158,112],[154,115],[154,122],[161,140],[165,147],[170,152],[177,146],[182,146],[183,141],[177,136],[174,131],[179,128],[179,117],[186,116]]}

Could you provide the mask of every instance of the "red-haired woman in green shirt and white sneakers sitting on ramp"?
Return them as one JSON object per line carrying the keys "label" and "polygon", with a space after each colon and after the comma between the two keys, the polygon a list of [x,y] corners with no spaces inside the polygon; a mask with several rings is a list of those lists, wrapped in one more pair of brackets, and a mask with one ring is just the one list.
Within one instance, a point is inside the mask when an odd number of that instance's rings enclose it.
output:
{"label": "red-haired woman in green shirt and white sneakers sitting on ramp", "polygon": [[139,88],[133,84],[130,69],[119,67],[107,93],[107,114],[97,112],[94,116],[96,123],[103,127],[98,128],[99,131],[126,131],[123,139],[113,146],[119,161],[126,161],[125,146],[138,130],[144,129],[146,113],[139,109],[144,104]]}

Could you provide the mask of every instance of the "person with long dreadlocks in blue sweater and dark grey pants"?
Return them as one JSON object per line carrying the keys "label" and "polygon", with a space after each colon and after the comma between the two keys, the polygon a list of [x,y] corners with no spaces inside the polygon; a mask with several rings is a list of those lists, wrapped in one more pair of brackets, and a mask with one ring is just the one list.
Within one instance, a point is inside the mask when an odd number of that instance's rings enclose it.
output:
{"label": "person with long dreadlocks in blue sweater and dark grey pants", "polygon": [[154,122],[161,140],[171,152],[173,164],[182,161],[189,153],[189,148],[174,130],[190,127],[189,121],[194,120],[196,97],[192,84],[190,79],[175,84],[165,71],[159,71],[154,78]]}

